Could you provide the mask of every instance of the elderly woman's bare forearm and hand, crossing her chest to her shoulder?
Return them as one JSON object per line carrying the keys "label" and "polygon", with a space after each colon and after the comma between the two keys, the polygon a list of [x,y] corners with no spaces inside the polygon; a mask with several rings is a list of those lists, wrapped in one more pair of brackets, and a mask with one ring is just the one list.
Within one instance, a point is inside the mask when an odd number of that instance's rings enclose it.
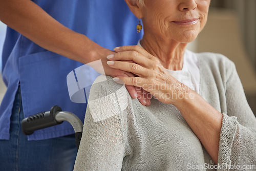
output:
{"label": "elderly woman's bare forearm and hand, crossing her chest to her shoulder", "polygon": [[[200,139],[212,160],[218,163],[222,114],[199,94],[179,82],[161,65],[157,57],[139,46],[123,46],[109,55],[108,65],[113,69],[134,73],[139,77],[115,77],[118,83],[141,87],[159,101],[173,104]],[[127,62],[133,60],[135,63]]]}

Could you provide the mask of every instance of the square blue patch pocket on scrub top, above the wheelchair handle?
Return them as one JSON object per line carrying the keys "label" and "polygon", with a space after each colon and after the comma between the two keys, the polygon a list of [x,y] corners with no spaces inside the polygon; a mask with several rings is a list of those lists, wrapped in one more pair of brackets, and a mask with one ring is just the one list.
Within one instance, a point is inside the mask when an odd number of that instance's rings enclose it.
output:
{"label": "square blue patch pocket on scrub top, above the wheelchair handle", "polygon": [[18,62],[25,117],[49,111],[53,105],[84,117],[86,104],[71,102],[67,88],[68,73],[82,63],[50,51],[22,56]]}

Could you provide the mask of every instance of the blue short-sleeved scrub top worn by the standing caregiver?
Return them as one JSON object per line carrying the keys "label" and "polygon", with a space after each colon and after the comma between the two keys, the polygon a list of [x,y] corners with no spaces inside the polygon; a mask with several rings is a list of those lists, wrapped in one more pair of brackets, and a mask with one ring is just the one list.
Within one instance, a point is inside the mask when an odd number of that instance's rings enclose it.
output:
{"label": "blue short-sleeved scrub top worn by the standing caregiver", "polygon": [[[138,19],[123,0],[54,0],[34,1],[64,26],[88,36],[104,48],[136,45]],[[46,23],[47,24],[47,23]],[[49,40],[51,41],[51,40]],[[83,65],[34,44],[31,40],[7,28],[3,50],[3,80],[7,92],[0,106],[0,139],[9,139],[10,117],[14,97],[20,83],[25,117],[49,111],[59,105],[63,111],[76,114],[82,121],[87,104],[70,100],[67,75]],[[91,82],[99,75],[88,67]],[[29,140],[41,140],[74,133],[69,123],[35,131]]]}

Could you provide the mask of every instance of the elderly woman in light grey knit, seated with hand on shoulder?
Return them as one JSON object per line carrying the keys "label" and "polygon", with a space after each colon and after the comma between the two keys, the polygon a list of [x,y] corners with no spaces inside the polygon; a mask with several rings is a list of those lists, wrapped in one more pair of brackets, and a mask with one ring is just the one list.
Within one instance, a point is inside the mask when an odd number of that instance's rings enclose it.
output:
{"label": "elderly woman in light grey knit, seated with hand on shoulder", "polygon": [[[74,170],[256,169],[256,119],[233,62],[185,50],[210,0],[126,3],[144,36],[138,46],[115,48],[108,64],[137,77],[96,79]],[[153,95],[151,105],[121,82]]]}

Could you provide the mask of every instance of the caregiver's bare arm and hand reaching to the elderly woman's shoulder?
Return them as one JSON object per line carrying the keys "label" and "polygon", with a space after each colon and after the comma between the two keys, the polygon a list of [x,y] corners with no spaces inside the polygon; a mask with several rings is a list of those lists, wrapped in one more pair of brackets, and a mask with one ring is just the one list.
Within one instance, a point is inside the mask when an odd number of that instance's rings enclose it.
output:
{"label": "caregiver's bare arm and hand reaching to the elderly woman's shoulder", "polygon": [[[0,20],[40,47],[82,63],[101,59],[104,71],[97,65],[92,66],[101,74],[114,77],[133,76],[128,72],[113,70],[106,64],[106,56],[113,54],[113,51],[99,46],[86,35],[63,26],[33,1],[0,0],[0,4]],[[138,97],[142,104],[146,103],[143,100],[148,102],[146,98],[140,96],[143,93],[142,90],[136,90],[133,86],[126,86],[126,88],[130,95],[133,98]]]}

